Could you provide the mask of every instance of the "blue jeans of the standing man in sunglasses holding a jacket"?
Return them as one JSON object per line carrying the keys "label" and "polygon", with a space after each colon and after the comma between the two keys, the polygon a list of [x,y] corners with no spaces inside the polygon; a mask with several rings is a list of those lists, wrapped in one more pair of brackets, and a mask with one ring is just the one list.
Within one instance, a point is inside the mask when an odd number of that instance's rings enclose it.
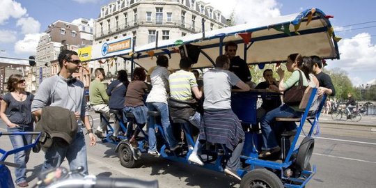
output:
{"label": "blue jeans of the standing man in sunglasses holding a jacket", "polygon": [[68,159],[71,171],[82,166],[84,167],[82,173],[88,175],[86,144],[83,132],[77,132],[75,139],[70,145],[54,141],[52,146],[45,152],[45,163],[42,166],[42,171],[60,166],[65,157]]}

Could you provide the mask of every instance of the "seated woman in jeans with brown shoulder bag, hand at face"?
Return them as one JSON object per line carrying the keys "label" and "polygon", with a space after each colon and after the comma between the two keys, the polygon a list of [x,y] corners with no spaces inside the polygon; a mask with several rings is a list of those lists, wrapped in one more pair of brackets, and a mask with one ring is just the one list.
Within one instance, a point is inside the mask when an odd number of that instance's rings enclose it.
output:
{"label": "seated woman in jeans with brown shoulder bag, hand at face", "polygon": [[[310,80],[309,73],[312,72],[312,66],[309,64],[309,59],[305,59],[305,63],[303,63],[303,57],[300,54],[290,54],[287,59],[286,68],[289,72],[292,72],[291,77],[285,81],[284,70],[282,68],[278,68],[277,73],[279,75],[279,90],[280,91],[287,91],[292,86],[299,84],[299,77],[303,79],[303,86],[308,86],[308,81]],[[312,84],[315,86],[315,84]],[[302,111],[299,111],[299,104],[283,104],[282,106],[269,111],[260,121],[261,131],[263,134],[263,151],[258,155],[258,157],[268,157],[272,155],[274,152],[279,152],[281,148],[276,140],[275,130],[272,129],[272,125],[274,125],[276,117],[281,118],[292,118],[301,116]],[[293,130],[296,128],[296,124],[294,122],[288,123],[286,129]]]}

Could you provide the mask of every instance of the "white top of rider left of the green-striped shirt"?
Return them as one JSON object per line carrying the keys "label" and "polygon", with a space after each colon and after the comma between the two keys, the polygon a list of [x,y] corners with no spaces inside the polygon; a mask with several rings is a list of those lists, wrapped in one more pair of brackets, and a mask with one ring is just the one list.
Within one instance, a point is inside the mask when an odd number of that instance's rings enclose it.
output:
{"label": "white top of rider left of the green-striped shirt", "polygon": [[163,102],[167,104],[169,92],[169,70],[165,67],[156,66],[150,75],[152,89],[146,102]]}

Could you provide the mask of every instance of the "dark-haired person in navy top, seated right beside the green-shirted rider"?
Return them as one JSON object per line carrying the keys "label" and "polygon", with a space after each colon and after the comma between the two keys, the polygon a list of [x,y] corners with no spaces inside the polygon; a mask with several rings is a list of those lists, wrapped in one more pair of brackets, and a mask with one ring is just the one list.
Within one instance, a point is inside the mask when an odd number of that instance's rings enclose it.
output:
{"label": "dark-haired person in navy top, seated right beside the green-shirted rider", "polygon": [[[127,92],[128,84],[130,81],[128,80],[127,71],[119,70],[118,71],[118,79],[111,81],[111,84],[107,87],[107,95],[109,95],[109,109],[115,109],[118,111],[122,111],[124,108],[125,102],[125,93]],[[121,116],[122,113],[119,113]],[[113,136],[118,136],[119,130],[119,123],[115,120],[116,123],[113,127]]]}

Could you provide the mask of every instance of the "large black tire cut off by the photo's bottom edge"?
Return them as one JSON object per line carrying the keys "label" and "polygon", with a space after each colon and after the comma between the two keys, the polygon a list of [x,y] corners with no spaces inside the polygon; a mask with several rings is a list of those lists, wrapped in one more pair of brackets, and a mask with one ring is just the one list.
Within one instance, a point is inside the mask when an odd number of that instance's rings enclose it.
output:
{"label": "large black tire cut off by the photo's bottom edge", "polygon": [[244,175],[240,188],[283,188],[283,183],[271,171],[255,169]]}

